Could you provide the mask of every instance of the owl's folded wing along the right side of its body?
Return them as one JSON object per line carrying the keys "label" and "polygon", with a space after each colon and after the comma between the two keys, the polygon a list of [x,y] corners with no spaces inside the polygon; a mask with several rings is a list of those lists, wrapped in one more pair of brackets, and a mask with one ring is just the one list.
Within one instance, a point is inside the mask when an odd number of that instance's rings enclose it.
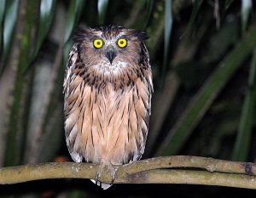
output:
{"label": "owl's folded wing along the right side of its body", "polygon": [[[131,155],[125,158],[125,163],[137,161],[144,153],[148,136],[148,122],[151,114],[151,96],[153,93],[152,72],[150,69],[148,50],[141,43],[137,78],[134,79],[134,87],[131,94],[131,103],[128,103],[128,142],[125,150],[131,150]],[[131,76],[132,78],[132,76]],[[135,150],[135,152],[134,152]]]}

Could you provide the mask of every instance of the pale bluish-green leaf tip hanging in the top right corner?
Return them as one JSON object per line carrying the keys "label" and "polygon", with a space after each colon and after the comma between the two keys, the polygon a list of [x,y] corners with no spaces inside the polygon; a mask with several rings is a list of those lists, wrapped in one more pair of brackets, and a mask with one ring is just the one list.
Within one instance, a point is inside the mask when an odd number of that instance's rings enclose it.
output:
{"label": "pale bluish-green leaf tip hanging in the top right corner", "polygon": [[244,33],[247,28],[247,21],[249,18],[250,11],[252,10],[252,0],[241,1],[241,31]]}

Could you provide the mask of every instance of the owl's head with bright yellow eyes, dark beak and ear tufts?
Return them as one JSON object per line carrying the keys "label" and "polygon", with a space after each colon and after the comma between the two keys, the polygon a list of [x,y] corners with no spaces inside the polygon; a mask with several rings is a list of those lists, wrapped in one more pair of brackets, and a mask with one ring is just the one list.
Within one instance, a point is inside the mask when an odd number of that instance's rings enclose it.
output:
{"label": "owl's head with bright yellow eyes, dark beak and ear tufts", "polygon": [[143,31],[101,25],[96,28],[77,29],[73,41],[80,44],[81,59],[85,64],[112,67],[120,63],[139,64],[143,41],[147,38]]}

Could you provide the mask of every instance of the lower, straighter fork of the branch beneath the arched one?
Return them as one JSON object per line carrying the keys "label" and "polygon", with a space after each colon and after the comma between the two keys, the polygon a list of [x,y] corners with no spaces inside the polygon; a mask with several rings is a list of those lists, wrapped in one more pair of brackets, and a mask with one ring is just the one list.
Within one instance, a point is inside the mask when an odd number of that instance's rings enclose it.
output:
{"label": "lower, straighter fork of the branch beneath the arched one", "polygon": [[118,184],[201,184],[256,189],[255,177],[235,173],[192,170],[151,170],[131,175]]}

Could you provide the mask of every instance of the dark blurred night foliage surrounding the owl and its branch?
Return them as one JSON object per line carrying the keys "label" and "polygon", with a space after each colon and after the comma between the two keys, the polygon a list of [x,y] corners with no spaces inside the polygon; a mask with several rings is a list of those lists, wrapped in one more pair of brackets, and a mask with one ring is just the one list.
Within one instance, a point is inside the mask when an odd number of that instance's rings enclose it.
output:
{"label": "dark blurred night foliage surrounding the owl and its branch", "polygon": [[[143,158],[255,161],[255,3],[241,0],[3,0],[0,167],[71,161],[62,82],[76,26],[148,33],[154,97]],[[102,6],[101,6],[102,5]],[[253,29],[254,28],[254,29]],[[254,35],[253,35],[254,34]],[[251,37],[250,42],[245,42]],[[246,44],[247,43],[247,44]],[[0,185],[0,197],[248,197],[253,190],[47,179]]]}

